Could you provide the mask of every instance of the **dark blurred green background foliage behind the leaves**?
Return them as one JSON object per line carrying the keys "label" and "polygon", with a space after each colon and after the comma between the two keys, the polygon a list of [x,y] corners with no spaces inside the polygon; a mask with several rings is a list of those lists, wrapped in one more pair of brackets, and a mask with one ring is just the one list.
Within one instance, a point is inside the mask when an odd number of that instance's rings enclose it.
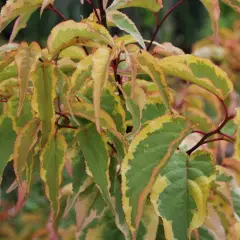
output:
{"label": "dark blurred green background foliage behind the leaves", "polygon": [[[163,0],[164,9],[162,9],[157,14],[159,19],[161,19],[163,15],[168,11],[168,9],[176,2],[177,0]],[[0,0],[0,7],[2,7],[5,3],[6,0]],[[87,3],[86,0],[84,5],[80,3],[80,0],[55,0],[55,7],[58,8],[66,16],[67,19],[73,19],[75,21],[80,21],[82,18],[88,17],[92,12],[92,7]],[[156,26],[153,13],[139,8],[129,8],[124,10],[124,12],[127,13],[127,15],[135,22],[144,39],[151,39],[152,32]],[[232,24],[237,19],[239,19],[239,15],[237,15],[227,5],[221,4],[220,28],[231,28]],[[37,41],[42,47],[44,47],[46,45],[46,40],[51,29],[59,22],[61,22],[61,19],[54,12],[45,10],[42,17],[40,18],[40,11],[36,11],[31,16],[27,28],[20,31],[15,41]],[[8,42],[13,25],[14,22],[9,24],[9,26],[0,34],[1,45]],[[120,32],[117,32],[118,30],[116,29],[112,29],[111,31],[113,35],[121,34]],[[170,17],[166,20],[160,29],[156,41],[171,42],[173,45],[183,49],[186,53],[190,53],[192,45],[196,41],[211,34],[211,24],[206,9],[199,0],[191,0],[184,1],[183,4],[181,4],[170,15]],[[18,193],[16,190],[12,191],[10,194],[6,194],[6,190],[14,182],[13,176],[14,173],[12,163],[9,163],[4,172],[0,197],[2,203],[6,201],[6,204],[10,206],[16,204],[18,198]],[[37,173],[35,178],[40,179]],[[69,182],[70,178],[65,172],[63,185]],[[9,229],[5,228],[8,229],[7,231],[11,232],[12,239],[16,239],[16,236],[18,236],[18,239],[28,239],[28,234],[34,232],[34,230],[37,228],[39,229],[39,225],[42,225],[44,227],[46,224],[46,221],[49,218],[49,209],[46,207],[48,206],[47,199],[41,197],[43,196],[43,191],[44,187],[42,182],[35,182],[28,201],[25,205],[25,211],[18,214],[16,218],[13,218],[11,220],[11,225],[8,225]],[[3,205],[0,205],[0,212]],[[0,219],[2,217],[4,216],[0,215]],[[74,218],[74,213],[70,213],[69,217],[62,221],[61,226],[63,228],[69,227],[74,221]],[[26,225],[28,226],[27,228]],[[41,232],[40,229],[39,234],[42,234],[42,236],[44,236],[46,234],[45,231],[46,230],[43,230],[43,232]],[[69,231],[71,231],[71,229]],[[0,240],[5,239],[2,237],[4,234],[2,234],[3,233],[1,233],[0,230]]]}

